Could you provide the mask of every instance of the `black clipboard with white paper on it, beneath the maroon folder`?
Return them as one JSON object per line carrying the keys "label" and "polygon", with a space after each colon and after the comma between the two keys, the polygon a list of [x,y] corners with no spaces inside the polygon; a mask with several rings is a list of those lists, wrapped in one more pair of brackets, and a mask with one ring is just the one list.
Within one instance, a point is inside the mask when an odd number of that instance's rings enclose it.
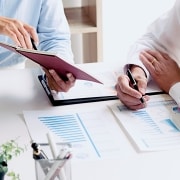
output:
{"label": "black clipboard with white paper on it, beneath the maroon folder", "polygon": [[39,76],[39,80],[54,106],[117,99],[115,85],[118,73],[102,70],[101,72],[92,72],[92,74],[103,84],[76,80],[75,86],[68,92],[52,92],[43,76]]}

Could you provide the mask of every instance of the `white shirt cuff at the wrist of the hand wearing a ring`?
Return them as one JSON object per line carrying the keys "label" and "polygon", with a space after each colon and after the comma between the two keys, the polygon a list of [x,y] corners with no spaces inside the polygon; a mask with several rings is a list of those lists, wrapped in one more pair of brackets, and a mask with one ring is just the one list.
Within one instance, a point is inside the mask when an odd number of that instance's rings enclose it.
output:
{"label": "white shirt cuff at the wrist of the hand wearing a ring", "polygon": [[174,84],[170,90],[169,95],[176,101],[178,107],[180,107],[180,82]]}

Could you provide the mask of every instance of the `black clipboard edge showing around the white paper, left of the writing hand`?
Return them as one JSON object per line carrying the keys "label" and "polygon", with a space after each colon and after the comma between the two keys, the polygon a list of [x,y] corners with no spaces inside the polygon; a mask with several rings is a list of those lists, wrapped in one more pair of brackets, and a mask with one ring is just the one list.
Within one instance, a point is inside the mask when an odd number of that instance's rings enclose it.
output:
{"label": "black clipboard edge showing around the white paper, left of the writing hand", "polygon": [[61,106],[61,105],[70,105],[70,104],[80,104],[80,103],[90,103],[90,102],[98,102],[98,101],[108,101],[108,100],[116,100],[117,96],[101,96],[101,97],[87,97],[87,98],[76,98],[76,99],[66,99],[66,100],[55,100],[51,90],[48,87],[48,84],[43,75],[39,75],[38,79],[45,90],[51,104],[53,106]]}

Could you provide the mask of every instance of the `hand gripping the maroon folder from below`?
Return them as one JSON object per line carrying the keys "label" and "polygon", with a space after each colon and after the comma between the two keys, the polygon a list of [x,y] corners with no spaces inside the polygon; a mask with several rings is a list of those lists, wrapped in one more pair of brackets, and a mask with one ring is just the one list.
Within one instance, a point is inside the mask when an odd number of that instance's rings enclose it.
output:
{"label": "hand gripping the maroon folder from below", "polygon": [[75,78],[71,73],[67,74],[67,81],[64,81],[59,77],[55,70],[47,70],[43,68],[46,73],[47,82],[51,90],[56,92],[67,92],[75,84]]}

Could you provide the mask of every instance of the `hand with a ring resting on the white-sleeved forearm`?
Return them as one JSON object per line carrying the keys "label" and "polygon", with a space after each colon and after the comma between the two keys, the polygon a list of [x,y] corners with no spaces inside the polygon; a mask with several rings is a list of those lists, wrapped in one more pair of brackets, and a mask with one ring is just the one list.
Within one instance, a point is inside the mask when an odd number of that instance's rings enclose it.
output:
{"label": "hand with a ring resting on the white-sleeved forearm", "polygon": [[180,82],[179,66],[166,53],[147,50],[140,53],[140,59],[152,78],[166,93],[175,83]]}

